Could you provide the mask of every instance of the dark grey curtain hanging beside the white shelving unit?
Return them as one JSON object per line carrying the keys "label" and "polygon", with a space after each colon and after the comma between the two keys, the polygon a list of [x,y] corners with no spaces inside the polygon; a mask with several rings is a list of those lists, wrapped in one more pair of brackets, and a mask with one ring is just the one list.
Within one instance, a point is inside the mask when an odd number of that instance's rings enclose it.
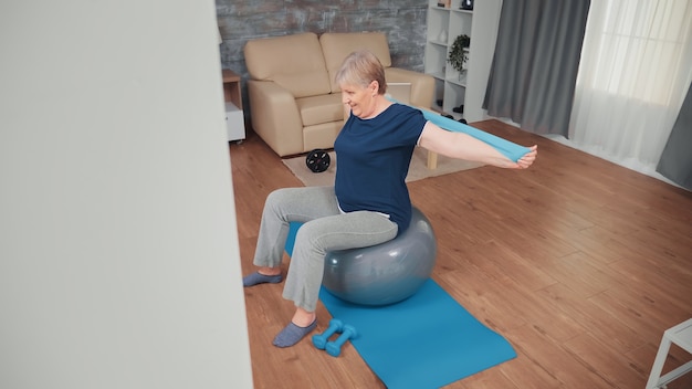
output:
{"label": "dark grey curtain hanging beside the white shelving unit", "polygon": [[483,108],[536,134],[569,129],[590,0],[503,1]]}

